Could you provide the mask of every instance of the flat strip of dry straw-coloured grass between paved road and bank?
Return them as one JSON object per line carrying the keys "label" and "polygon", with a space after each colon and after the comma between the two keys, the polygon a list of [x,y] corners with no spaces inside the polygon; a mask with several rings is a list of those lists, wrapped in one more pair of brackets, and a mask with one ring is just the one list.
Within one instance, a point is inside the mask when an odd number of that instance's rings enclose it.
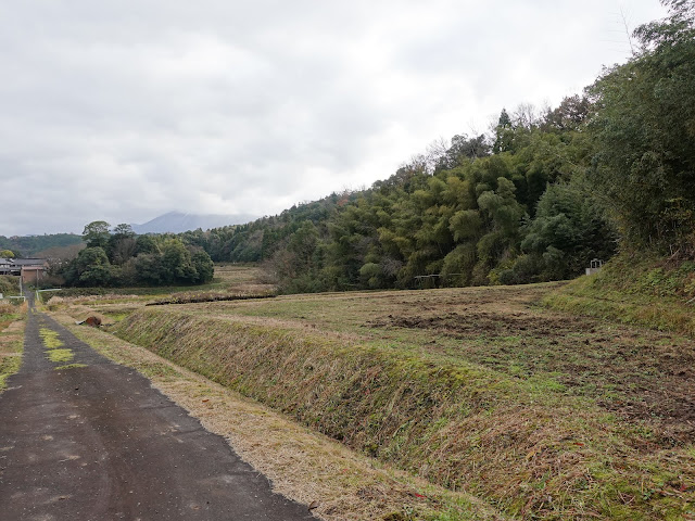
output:
{"label": "flat strip of dry straw-coloured grass between paved road and bank", "polygon": [[317,501],[314,512],[321,519],[505,519],[470,495],[381,466],[142,347],[75,327],[68,315],[55,318],[101,353],[146,374],[206,429],[229,440],[277,492],[306,505]]}

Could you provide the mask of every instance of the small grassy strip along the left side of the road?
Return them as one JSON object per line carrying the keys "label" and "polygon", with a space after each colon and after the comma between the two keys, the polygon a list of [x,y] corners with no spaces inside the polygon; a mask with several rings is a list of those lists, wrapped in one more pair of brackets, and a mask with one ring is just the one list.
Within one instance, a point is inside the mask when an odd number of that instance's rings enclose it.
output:
{"label": "small grassy strip along the left side of the road", "polygon": [[[0,293],[18,294],[17,278],[0,276]],[[5,389],[7,379],[20,370],[25,314],[26,305],[0,302],[0,392]]]}

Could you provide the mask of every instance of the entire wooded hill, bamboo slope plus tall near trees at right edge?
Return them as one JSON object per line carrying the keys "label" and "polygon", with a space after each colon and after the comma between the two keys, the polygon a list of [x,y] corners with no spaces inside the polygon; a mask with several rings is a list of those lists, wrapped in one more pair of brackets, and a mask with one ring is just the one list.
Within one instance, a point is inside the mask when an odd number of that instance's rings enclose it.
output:
{"label": "entire wooded hill, bamboo slope plus tall near trees at right edge", "polygon": [[184,237],[264,260],[287,292],[561,279],[619,249],[693,257],[695,2],[664,3],[628,63],[553,110],[503,110],[368,190]]}

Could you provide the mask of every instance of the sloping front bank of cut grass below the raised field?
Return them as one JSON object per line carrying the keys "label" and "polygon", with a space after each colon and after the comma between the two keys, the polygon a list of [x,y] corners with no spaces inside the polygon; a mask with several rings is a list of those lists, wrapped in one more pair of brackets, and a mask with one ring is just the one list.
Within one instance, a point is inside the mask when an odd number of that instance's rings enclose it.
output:
{"label": "sloping front bank of cut grass below the raised field", "polygon": [[645,444],[555,378],[518,379],[397,343],[148,308],[115,327],[352,448],[525,519],[695,514],[690,447]]}

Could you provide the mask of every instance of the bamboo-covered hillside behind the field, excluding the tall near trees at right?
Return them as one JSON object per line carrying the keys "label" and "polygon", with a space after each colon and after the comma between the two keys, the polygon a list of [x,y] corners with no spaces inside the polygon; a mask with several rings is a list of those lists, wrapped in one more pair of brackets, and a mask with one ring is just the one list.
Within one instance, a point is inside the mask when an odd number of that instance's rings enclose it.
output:
{"label": "bamboo-covered hillside behind the field, excluding the tall near trees at right", "polygon": [[285,291],[572,276],[616,245],[585,196],[587,116],[580,97],[540,116],[505,111],[494,136],[455,136],[368,190],[186,240],[217,260],[266,260]]}

